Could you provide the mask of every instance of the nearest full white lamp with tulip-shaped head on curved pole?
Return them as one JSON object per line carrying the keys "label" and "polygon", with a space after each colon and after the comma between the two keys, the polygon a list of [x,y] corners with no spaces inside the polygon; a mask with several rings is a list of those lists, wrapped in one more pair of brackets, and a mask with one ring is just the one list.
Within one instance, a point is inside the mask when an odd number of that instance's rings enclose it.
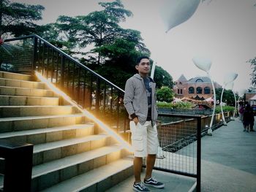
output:
{"label": "nearest full white lamp with tulip-shaped head on curved pole", "polygon": [[[203,57],[195,57],[192,58],[192,61],[194,62],[195,66],[197,66],[199,69],[203,70],[204,72],[207,73],[209,79],[211,80],[211,75],[209,74],[209,70],[211,69],[211,60],[208,58],[203,58]],[[212,123],[214,122],[214,114],[215,114],[215,108],[216,108],[216,92],[214,88],[214,82],[211,80],[211,86],[214,91],[214,110],[211,115],[211,123],[210,127],[208,128],[207,134],[212,135]]]}

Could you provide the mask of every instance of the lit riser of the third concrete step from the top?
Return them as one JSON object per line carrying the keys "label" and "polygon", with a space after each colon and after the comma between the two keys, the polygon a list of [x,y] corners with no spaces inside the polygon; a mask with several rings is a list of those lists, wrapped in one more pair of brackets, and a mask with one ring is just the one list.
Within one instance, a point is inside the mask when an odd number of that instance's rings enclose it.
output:
{"label": "lit riser of the third concrete step from the top", "polygon": [[6,96],[58,96],[51,90],[0,86],[0,95]]}

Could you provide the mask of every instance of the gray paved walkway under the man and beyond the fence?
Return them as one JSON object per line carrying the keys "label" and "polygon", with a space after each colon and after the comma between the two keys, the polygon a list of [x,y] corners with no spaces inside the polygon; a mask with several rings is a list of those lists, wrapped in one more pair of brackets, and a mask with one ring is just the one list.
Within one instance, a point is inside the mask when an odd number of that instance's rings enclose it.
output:
{"label": "gray paved walkway under the man and beyond the fence", "polygon": [[[201,191],[256,191],[256,131],[243,129],[236,119],[218,128],[213,136],[202,138]],[[151,191],[189,191],[195,183],[195,179],[177,174],[154,171],[154,176],[165,188]],[[132,191],[132,182],[129,177],[108,192]]]}

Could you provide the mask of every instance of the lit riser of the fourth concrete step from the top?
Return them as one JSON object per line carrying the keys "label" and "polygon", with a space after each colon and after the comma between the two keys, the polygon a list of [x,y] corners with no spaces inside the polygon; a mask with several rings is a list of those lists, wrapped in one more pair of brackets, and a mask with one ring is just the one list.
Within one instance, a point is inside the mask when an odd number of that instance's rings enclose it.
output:
{"label": "lit riser of the fourth concrete step from the top", "polygon": [[59,105],[59,97],[0,95],[0,106],[14,106],[14,105],[17,105],[17,106]]}

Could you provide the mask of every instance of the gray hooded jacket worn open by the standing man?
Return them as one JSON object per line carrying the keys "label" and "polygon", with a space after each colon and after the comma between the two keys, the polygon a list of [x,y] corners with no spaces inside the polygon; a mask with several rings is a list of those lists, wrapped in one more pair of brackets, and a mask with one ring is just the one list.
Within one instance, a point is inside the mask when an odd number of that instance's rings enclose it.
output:
{"label": "gray hooded jacket worn open by the standing man", "polygon": [[[150,77],[149,77],[150,78]],[[153,125],[157,121],[157,101],[156,101],[156,83],[151,80],[152,101],[151,101],[151,118]],[[127,109],[129,118],[136,116],[140,124],[144,124],[148,115],[148,97],[146,94],[146,86],[140,74],[130,77],[125,84],[124,107]]]}

